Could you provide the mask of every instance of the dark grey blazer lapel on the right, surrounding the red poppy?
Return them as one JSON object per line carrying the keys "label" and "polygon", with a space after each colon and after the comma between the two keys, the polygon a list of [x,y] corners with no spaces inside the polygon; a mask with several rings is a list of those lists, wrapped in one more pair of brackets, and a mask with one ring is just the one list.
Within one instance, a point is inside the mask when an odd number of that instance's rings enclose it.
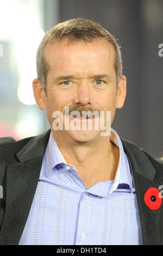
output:
{"label": "dark grey blazer lapel on the right, surrounding the red poppy", "polygon": [[[150,210],[145,203],[144,196],[148,188],[159,188],[163,184],[160,179],[156,179],[156,169],[149,161],[147,155],[135,144],[122,139],[124,151],[129,156],[136,188],[137,204],[142,228],[143,245],[160,245],[161,234],[160,224],[163,214],[162,204],[158,210]],[[155,161],[155,160],[154,160]]]}

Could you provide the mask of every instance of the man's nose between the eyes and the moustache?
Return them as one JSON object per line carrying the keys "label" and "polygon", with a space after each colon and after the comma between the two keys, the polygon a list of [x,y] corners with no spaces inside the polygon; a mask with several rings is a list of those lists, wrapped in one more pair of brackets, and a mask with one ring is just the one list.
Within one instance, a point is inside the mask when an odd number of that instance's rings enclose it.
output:
{"label": "man's nose between the eyes and the moustache", "polygon": [[74,104],[92,105],[92,90],[88,82],[80,82],[74,95]]}

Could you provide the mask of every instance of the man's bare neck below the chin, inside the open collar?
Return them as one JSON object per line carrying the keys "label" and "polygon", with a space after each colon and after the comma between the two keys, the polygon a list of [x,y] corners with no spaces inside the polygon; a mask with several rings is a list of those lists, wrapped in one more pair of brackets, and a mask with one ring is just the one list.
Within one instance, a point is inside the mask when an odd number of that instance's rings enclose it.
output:
{"label": "man's bare neck below the chin, inside the open collar", "polygon": [[66,143],[66,139],[61,139],[53,133],[52,135],[66,162],[74,166],[78,173],[89,172],[95,176],[107,173],[109,179],[114,179],[120,153],[118,147],[110,141],[109,136],[101,137],[98,142]]}

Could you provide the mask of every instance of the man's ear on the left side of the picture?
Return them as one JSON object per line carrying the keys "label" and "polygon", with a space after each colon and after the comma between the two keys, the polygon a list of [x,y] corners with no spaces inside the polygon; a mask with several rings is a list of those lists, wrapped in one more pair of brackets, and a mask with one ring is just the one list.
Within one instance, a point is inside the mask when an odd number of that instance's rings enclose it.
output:
{"label": "man's ear on the left side of the picture", "polygon": [[40,108],[40,110],[44,110],[46,108],[46,95],[38,79],[33,80],[32,87],[37,106]]}

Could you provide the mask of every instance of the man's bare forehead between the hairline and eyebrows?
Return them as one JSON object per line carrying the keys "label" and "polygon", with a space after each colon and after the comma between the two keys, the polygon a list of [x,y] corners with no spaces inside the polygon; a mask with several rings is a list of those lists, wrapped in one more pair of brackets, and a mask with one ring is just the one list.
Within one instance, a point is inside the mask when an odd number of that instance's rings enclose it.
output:
{"label": "man's bare forehead between the hairline and eyebrows", "polygon": [[114,67],[115,50],[114,46],[106,39],[96,39],[92,42],[68,40],[48,42],[45,47],[44,57],[48,63],[48,71],[60,69],[63,66],[68,68],[83,68],[86,66],[106,65]]}

